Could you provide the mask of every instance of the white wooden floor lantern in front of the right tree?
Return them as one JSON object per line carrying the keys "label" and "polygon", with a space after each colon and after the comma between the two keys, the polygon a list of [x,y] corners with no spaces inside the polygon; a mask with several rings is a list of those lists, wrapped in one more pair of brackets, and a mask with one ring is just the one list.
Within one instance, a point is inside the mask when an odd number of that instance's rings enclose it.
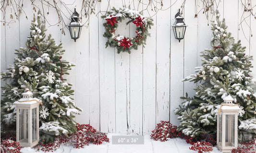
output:
{"label": "white wooden floor lantern in front of the right tree", "polygon": [[222,153],[231,153],[237,147],[237,121],[239,107],[232,103],[231,95],[223,98],[217,115],[217,147]]}

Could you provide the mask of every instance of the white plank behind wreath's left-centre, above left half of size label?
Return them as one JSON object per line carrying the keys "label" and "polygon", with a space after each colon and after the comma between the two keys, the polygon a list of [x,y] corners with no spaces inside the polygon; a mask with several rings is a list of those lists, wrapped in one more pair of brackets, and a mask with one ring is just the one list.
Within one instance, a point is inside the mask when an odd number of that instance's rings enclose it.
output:
{"label": "white plank behind wreath's left-centre, above left half of size label", "polygon": [[[129,2],[129,1],[128,1]],[[122,7],[121,0],[115,0],[115,7]],[[118,24],[115,35],[129,37],[128,19]],[[130,54],[117,53],[115,49],[115,96],[116,96],[116,132],[126,134],[130,128]]]}

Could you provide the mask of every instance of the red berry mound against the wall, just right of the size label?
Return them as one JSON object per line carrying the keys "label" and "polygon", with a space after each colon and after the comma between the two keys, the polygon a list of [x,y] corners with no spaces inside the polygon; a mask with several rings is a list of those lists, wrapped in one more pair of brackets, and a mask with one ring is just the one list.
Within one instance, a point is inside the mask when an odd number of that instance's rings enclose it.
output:
{"label": "red berry mound against the wall, just right of the size label", "polygon": [[167,138],[175,138],[181,136],[181,132],[177,131],[177,126],[173,126],[169,121],[162,121],[157,124],[156,129],[150,135],[155,141],[167,141]]}

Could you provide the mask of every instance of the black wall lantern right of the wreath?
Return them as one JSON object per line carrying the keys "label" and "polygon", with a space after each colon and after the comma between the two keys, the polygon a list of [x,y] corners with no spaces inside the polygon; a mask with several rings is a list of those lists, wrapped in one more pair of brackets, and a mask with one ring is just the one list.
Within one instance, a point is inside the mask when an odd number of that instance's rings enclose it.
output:
{"label": "black wall lantern right of the wreath", "polygon": [[175,23],[172,25],[172,29],[175,35],[175,38],[181,42],[181,40],[184,38],[185,31],[187,25],[183,22],[183,17],[181,16],[180,9],[179,12],[175,15]]}

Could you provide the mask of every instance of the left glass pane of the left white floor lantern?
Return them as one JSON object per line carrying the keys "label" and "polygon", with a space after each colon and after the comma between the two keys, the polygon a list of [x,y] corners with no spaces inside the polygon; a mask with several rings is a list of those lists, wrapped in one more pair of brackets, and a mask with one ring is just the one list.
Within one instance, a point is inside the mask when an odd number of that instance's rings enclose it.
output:
{"label": "left glass pane of the left white floor lantern", "polygon": [[28,110],[19,109],[19,141],[28,143]]}

